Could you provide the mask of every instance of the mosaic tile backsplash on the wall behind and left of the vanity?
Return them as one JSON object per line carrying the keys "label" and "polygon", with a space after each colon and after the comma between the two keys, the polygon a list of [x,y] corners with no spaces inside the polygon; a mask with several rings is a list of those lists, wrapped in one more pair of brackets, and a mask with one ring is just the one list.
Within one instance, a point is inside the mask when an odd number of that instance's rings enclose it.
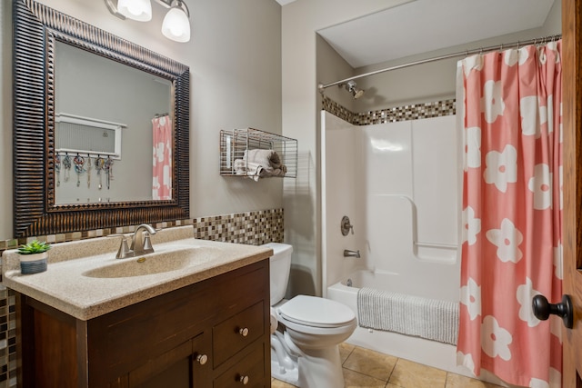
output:
{"label": "mosaic tile backsplash on the wall behind and left of the vanity", "polygon": [[[194,236],[198,239],[261,245],[270,242],[283,242],[283,215],[283,209],[267,209],[200,217],[191,220],[176,220],[154,224],[153,226],[156,229],[165,229],[191,224],[194,228]],[[14,249],[19,244],[25,244],[26,240],[38,239],[49,243],[63,243],[65,241],[83,240],[108,234],[129,234],[135,231],[135,226],[1,241],[0,255],[6,249]],[[15,295],[11,290],[0,284],[0,388],[15,387],[17,385],[17,363]]]}

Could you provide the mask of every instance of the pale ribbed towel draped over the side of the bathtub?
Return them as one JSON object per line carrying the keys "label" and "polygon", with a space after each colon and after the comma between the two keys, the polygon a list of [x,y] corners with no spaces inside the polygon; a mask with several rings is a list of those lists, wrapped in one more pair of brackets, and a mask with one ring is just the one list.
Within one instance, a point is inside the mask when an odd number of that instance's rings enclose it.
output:
{"label": "pale ribbed towel draped over the side of the bathtub", "polygon": [[364,287],[357,314],[361,327],[457,344],[458,303]]}

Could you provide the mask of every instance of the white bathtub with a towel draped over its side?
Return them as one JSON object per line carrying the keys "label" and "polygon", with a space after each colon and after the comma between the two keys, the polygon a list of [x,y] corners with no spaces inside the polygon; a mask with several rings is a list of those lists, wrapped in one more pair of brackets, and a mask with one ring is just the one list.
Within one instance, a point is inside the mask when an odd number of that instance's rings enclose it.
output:
{"label": "white bathtub with a towel draped over its side", "polygon": [[[348,279],[351,286],[348,286]],[[348,305],[357,316],[357,291],[361,287],[373,287],[396,293],[414,294],[432,299],[458,301],[458,293],[443,290],[446,287],[436,287],[426,294],[430,288],[418,287],[398,274],[375,273],[372,271],[357,271],[350,274],[340,283],[327,287],[327,298]],[[453,288],[453,290],[455,290]],[[467,369],[457,367],[456,346],[438,343],[399,333],[376,331],[357,327],[356,331],[346,341],[366,349],[380,353],[391,354],[406,360],[433,366],[448,372],[467,374]]]}

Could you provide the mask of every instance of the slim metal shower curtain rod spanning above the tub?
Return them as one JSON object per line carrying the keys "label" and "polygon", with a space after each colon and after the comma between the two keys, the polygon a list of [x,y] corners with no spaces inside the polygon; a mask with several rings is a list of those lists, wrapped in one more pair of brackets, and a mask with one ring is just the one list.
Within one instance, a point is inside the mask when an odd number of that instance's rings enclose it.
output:
{"label": "slim metal shower curtain rod spanning above the tub", "polygon": [[410,66],[414,66],[414,65],[428,64],[430,62],[442,61],[443,59],[455,58],[457,56],[463,56],[463,55],[467,56],[467,55],[479,54],[479,53],[483,53],[483,52],[487,52],[487,51],[503,50],[504,48],[519,47],[522,45],[536,45],[537,43],[555,41],[555,40],[558,40],[561,38],[562,38],[561,34],[549,35],[549,36],[542,37],[542,38],[528,39],[525,41],[517,41],[517,42],[513,42],[513,43],[509,43],[509,44],[490,45],[488,47],[479,47],[479,48],[476,48],[473,50],[465,50],[465,51],[461,51],[461,52],[454,53],[454,54],[435,56],[434,58],[422,59],[419,61],[404,64],[404,65],[396,65],[396,66],[392,66],[392,67],[386,67],[384,69],[376,70],[376,71],[366,73],[363,75],[354,75],[353,77],[349,77],[349,78],[346,78],[346,79],[343,79],[340,81],[336,81],[336,82],[333,82],[333,83],[327,84],[327,85],[319,84],[319,85],[317,85],[317,88],[319,89],[319,92],[323,94],[324,91],[326,90],[326,88],[328,88],[329,86],[346,84],[346,82],[348,82],[348,81],[354,81],[356,79],[364,78],[364,77],[369,76],[369,75],[377,75],[380,73],[385,73],[385,72],[388,72],[390,70],[398,70],[398,69],[403,69],[405,67],[410,67]]}

